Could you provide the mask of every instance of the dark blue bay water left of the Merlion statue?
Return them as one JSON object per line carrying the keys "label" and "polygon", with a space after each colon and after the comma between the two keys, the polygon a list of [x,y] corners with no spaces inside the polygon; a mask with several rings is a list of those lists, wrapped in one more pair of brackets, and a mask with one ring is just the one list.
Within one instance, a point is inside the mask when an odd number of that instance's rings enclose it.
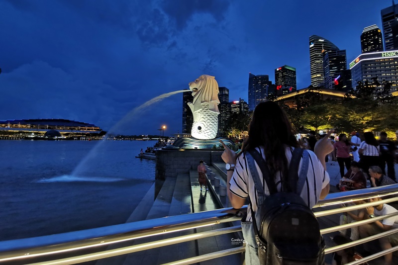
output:
{"label": "dark blue bay water left of the Merlion statue", "polygon": [[124,223],[155,181],[152,141],[0,141],[0,241]]}

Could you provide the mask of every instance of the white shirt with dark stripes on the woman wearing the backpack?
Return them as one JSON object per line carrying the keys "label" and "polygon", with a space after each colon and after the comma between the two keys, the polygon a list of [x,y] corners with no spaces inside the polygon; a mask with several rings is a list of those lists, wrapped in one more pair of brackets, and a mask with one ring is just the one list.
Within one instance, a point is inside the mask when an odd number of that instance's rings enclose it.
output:
{"label": "white shirt with dark stripes on the woman wearing the backpack", "polygon": [[[265,154],[264,154],[264,149],[263,147],[256,148],[257,151],[260,152],[262,155],[263,159],[265,159]],[[292,159],[293,155],[293,150],[294,148],[287,147],[286,148],[286,158],[288,159],[288,163],[290,163],[290,160]],[[310,151],[306,150],[309,153],[308,156],[308,171],[307,171],[307,179],[304,183],[303,189],[301,191],[301,198],[304,200],[307,205],[312,208],[319,200],[320,192],[322,188],[324,188],[328,183],[329,183],[329,174],[323,169],[322,164],[316,157],[316,155]],[[304,151],[305,152],[305,151]],[[301,170],[301,163],[302,160],[300,161],[299,167],[298,167],[298,174],[300,174]],[[260,179],[262,180],[262,184],[264,187],[264,193],[266,195],[270,195],[270,192],[268,190],[268,186],[265,183],[264,178],[262,177],[261,170],[259,166],[256,164],[257,172],[259,173]],[[279,181],[281,179],[281,174],[280,172],[277,173],[276,175],[276,181]],[[257,192],[254,187],[254,181],[251,176],[250,170],[248,168],[246,159],[243,155],[240,155],[236,161],[236,166],[235,170],[233,172],[232,178],[229,181],[230,183],[230,188],[229,190],[235,194],[236,196],[239,196],[241,198],[247,198],[248,196],[251,199],[252,205],[253,205],[253,210],[254,212],[257,211]],[[278,184],[277,186],[278,191],[281,190],[281,183]],[[250,210],[250,204],[248,205],[247,209],[247,218],[246,221],[251,221],[251,210]]]}

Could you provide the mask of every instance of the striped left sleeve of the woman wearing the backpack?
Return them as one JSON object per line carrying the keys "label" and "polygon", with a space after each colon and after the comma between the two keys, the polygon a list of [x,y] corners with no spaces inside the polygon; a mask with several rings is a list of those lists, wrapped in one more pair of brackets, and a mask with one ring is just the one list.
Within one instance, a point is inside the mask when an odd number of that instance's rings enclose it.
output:
{"label": "striped left sleeve of the woman wearing the backpack", "polygon": [[229,190],[241,198],[247,198],[249,196],[249,191],[247,187],[247,171],[246,164],[243,156],[239,156],[236,161],[235,170],[229,181]]}

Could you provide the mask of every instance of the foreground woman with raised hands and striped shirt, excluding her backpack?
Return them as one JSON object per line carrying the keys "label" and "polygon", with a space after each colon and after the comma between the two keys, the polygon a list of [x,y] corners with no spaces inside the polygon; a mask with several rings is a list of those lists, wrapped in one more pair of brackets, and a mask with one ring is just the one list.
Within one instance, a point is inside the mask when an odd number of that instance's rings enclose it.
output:
{"label": "foreground woman with raised hands and striped shirt, excluding her backpack", "polygon": [[[329,175],[325,171],[325,157],[333,151],[333,146],[328,139],[331,133],[332,131],[328,133],[327,137],[316,143],[315,153],[304,150],[308,153],[309,159],[308,165],[306,165],[308,166],[306,184],[302,188],[300,196],[310,208],[317,203],[319,198],[324,198],[329,192]],[[221,144],[225,148],[221,158],[227,163],[227,192],[232,207],[241,208],[247,198],[251,201],[248,205],[247,216],[242,219],[242,231],[246,242],[246,264],[259,264],[258,245],[254,239],[251,210],[255,213],[266,197],[257,194],[251,170],[247,165],[246,154],[252,150],[257,150],[260,153],[270,170],[271,179],[275,181],[278,191],[281,191],[281,187],[288,177],[289,163],[294,149],[298,148],[298,142],[286,113],[276,102],[267,101],[258,104],[255,108],[249,126],[249,135],[238,156],[224,143],[221,142]],[[302,161],[301,157],[298,172],[301,170]],[[267,183],[260,167],[257,163],[255,165],[255,170],[262,180],[262,187],[259,188],[263,189],[267,196],[270,194]],[[261,197],[259,198],[259,196]]]}

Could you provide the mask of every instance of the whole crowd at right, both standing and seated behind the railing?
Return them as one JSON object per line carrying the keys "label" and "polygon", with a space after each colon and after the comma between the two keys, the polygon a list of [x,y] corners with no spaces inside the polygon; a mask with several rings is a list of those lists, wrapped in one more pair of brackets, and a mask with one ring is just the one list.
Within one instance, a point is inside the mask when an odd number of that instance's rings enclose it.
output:
{"label": "whole crowd at right, both standing and seated behind the railing", "polygon": [[[313,149],[315,143],[321,139],[314,131],[309,133],[306,140],[308,149]],[[396,184],[396,172],[394,164],[397,162],[398,130],[396,141],[387,139],[387,133],[381,132],[377,140],[372,132],[365,132],[360,135],[358,132],[351,132],[350,138],[342,133],[338,135],[337,141],[330,136],[334,150],[327,156],[326,160],[336,161],[339,165],[341,179],[337,184],[340,191],[362,189],[366,187],[378,187]],[[369,180],[369,181],[367,181]],[[367,185],[367,183],[369,183]],[[375,197],[368,201],[359,200],[347,206],[363,204],[366,202],[377,202],[380,204],[374,207],[349,211],[340,216],[340,225],[351,222],[375,218],[377,216],[396,213],[398,210],[383,203],[382,198]],[[385,218],[369,224],[341,230],[341,234],[332,240],[338,245],[356,241],[379,233],[398,228],[398,216]],[[398,245],[398,234],[391,234],[378,239],[379,244],[374,242],[364,244],[364,251],[372,253],[372,249],[388,250]],[[333,254],[334,264],[346,264],[360,259],[361,256],[354,251],[354,248],[347,248]],[[393,254],[384,256],[385,264],[393,264]]]}

